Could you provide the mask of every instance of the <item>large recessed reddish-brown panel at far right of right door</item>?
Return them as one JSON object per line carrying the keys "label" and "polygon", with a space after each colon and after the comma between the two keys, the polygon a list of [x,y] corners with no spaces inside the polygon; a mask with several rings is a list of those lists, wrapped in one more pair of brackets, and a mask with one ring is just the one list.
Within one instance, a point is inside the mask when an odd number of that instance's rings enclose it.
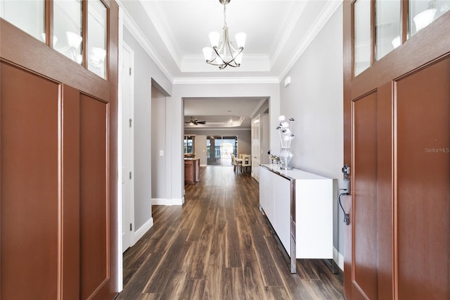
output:
{"label": "large recessed reddish-brown panel at far right of right door", "polygon": [[450,56],[397,80],[396,93],[398,297],[449,299]]}

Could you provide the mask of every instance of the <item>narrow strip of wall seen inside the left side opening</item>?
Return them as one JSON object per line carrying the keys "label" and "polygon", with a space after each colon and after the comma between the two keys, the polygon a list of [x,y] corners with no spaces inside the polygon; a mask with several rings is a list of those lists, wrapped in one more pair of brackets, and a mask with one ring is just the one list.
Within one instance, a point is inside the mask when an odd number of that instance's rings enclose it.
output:
{"label": "narrow strip of wall seen inside the left side opening", "polygon": [[[166,130],[165,130],[165,115],[166,115],[166,102],[165,96],[152,86],[152,129],[151,129],[151,142],[152,142],[152,199],[164,199],[165,198],[165,165],[166,165]],[[162,151],[162,155],[161,155]]]}

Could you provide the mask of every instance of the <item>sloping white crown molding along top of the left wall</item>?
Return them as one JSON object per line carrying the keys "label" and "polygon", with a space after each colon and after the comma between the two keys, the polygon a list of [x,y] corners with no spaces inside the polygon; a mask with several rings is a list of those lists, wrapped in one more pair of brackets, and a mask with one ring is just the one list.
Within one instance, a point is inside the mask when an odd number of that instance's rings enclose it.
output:
{"label": "sloping white crown molding along top of the left wall", "polygon": [[133,35],[133,37],[139,42],[139,44],[141,44],[144,51],[146,51],[148,56],[150,56],[150,58],[155,62],[155,64],[158,65],[158,68],[160,68],[161,72],[167,77],[167,79],[169,79],[170,82],[173,82],[174,77],[172,76],[172,74],[170,74],[169,70],[167,69],[165,63],[162,61],[160,56],[158,56],[157,51],[155,51],[152,44],[150,44],[146,36],[139,28],[139,26],[136,25],[136,23],[134,23],[134,20],[131,18],[128,11],[123,7],[121,1],[117,0],[117,3],[119,4],[120,9],[122,10],[124,27],[127,27],[127,30],[129,30],[129,32],[131,32],[131,35]]}

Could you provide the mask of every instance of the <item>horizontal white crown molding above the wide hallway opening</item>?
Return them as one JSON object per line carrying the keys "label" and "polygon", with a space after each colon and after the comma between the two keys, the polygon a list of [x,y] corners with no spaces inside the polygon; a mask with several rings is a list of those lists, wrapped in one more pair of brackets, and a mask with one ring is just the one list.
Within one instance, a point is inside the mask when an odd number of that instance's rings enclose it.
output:
{"label": "horizontal white crown molding above the wide hallway opening", "polygon": [[172,82],[174,85],[217,85],[217,84],[279,84],[278,77],[178,77]]}

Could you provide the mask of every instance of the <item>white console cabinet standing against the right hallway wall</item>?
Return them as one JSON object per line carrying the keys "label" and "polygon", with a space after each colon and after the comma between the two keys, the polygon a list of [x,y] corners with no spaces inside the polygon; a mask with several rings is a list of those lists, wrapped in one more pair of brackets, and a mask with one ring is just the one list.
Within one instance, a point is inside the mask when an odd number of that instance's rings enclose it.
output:
{"label": "white console cabinet standing against the right hallway wall", "polygon": [[333,258],[333,179],[302,170],[259,168],[259,208],[289,256]]}

